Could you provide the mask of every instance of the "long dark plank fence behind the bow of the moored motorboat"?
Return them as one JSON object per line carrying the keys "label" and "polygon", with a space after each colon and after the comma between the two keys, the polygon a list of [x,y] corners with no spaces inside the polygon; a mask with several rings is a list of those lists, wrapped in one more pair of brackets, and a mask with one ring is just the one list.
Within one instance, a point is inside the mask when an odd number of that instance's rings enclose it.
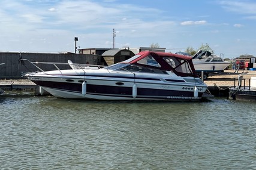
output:
{"label": "long dark plank fence behind the bow of the moored motorboat", "polygon": [[[37,67],[25,61],[21,65],[19,58],[28,59],[29,61],[38,62],[55,62],[67,63],[68,60],[73,63],[103,65],[104,59],[101,55],[86,54],[48,54],[48,53],[28,53],[28,52],[0,52],[0,79],[4,78],[21,78],[24,72],[35,72]],[[55,70],[55,67],[49,64],[38,64],[43,70]],[[59,67],[59,66],[58,66]],[[60,66],[60,69],[70,69],[69,66]]]}

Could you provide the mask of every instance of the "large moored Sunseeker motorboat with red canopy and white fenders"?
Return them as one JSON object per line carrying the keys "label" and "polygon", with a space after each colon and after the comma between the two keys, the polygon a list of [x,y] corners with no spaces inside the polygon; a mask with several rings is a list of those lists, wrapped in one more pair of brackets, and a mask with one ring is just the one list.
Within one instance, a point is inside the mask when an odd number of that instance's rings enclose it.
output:
{"label": "large moored Sunseeker motorboat with red canopy and white fenders", "polygon": [[26,73],[25,78],[58,98],[200,100],[207,89],[195,73],[191,57],[168,52],[142,51],[106,67],[68,61],[64,64],[70,69],[59,69],[61,63],[50,63],[56,67],[51,71],[38,67],[40,62],[29,62],[40,71]]}

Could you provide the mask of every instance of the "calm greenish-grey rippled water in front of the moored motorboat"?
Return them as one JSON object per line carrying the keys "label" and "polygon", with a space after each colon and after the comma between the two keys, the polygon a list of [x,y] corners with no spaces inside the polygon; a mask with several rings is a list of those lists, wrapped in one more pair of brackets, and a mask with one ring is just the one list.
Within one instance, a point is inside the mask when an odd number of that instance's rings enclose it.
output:
{"label": "calm greenish-grey rippled water in front of the moored motorboat", "polygon": [[0,98],[0,169],[256,169],[255,103]]}

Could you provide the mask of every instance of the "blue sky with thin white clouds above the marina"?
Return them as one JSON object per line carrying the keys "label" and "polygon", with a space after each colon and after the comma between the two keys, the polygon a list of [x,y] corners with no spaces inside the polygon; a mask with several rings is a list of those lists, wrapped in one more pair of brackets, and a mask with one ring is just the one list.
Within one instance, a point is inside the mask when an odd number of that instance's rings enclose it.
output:
{"label": "blue sky with thin white clouds above the marina", "polygon": [[255,0],[1,0],[0,51],[150,47],[256,56]]}

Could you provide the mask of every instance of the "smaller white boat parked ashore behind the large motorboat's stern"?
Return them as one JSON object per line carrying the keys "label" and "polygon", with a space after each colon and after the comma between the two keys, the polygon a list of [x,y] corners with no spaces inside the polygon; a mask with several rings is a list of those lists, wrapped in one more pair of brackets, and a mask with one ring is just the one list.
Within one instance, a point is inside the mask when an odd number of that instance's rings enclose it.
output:
{"label": "smaller white boat parked ashore behind the large motorboat's stern", "polygon": [[231,64],[209,51],[200,50],[192,59],[196,72],[221,72]]}

